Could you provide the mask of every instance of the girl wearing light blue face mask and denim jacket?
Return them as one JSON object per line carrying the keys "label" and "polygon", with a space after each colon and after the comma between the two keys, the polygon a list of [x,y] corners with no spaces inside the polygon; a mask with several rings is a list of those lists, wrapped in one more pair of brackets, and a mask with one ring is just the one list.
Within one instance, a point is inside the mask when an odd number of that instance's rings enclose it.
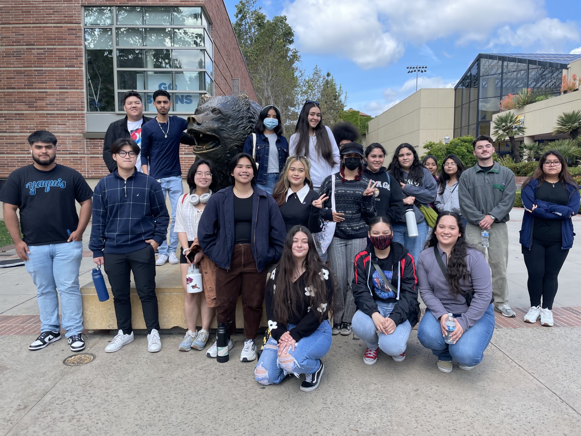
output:
{"label": "girl wearing light blue face mask and denim jacket", "polygon": [[261,110],[254,131],[246,138],[243,152],[253,156],[258,165],[256,186],[272,195],[289,155],[289,145],[282,135],[281,113],[277,106],[266,106]]}

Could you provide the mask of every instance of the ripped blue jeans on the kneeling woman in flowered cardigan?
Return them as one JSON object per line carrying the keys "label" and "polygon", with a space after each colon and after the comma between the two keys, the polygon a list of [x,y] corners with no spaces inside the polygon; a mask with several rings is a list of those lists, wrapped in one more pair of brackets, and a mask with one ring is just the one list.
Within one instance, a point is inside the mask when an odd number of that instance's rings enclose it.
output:
{"label": "ripped blue jeans on the kneeling woman in flowered cardigan", "polygon": [[[288,330],[296,324],[288,324]],[[323,358],[331,348],[331,323],[324,320],[310,336],[300,339],[295,345],[295,351],[289,349],[290,357],[278,356],[277,340],[268,339],[256,368],[254,378],[260,384],[278,384],[287,374],[313,374],[319,369],[319,359]]]}

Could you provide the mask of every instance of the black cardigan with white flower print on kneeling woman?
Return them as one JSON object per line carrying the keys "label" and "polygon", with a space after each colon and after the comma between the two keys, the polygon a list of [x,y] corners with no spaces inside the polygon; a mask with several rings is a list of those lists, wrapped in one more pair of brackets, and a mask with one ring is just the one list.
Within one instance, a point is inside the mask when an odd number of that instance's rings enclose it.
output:
{"label": "black cardigan with white flower print on kneeling woman", "polygon": [[[321,280],[324,280],[325,285],[327,286],[327,301],[331,301],[333,299],[333,278],[331,277],[331,273],[325,266],[321,265],[321,272],[319,275],[321,276]],[[287,323],[296,324],[296,326],[289,330],[285,323],[281,323],[279,320],[275,319],[274,310],[272,309],[272,299],[274,293],[277,291],[275,286],[276,276],[277,269],[274,269],[268,276],[268,283],[266,285],[266,292],[264,294],[264,302],[266,305],[266,315],[268,317],[268,328],[270,329],[270,335],[272,338],[278,341],[278,339],[280,339],[281,336],[286,331],[288,331],[290,336],[292,336],[295,341],[299,342],[300,339],[315,333],[317,328],[321,325],[321,321],[319,321],[319,315],[321,312],[324,315],[324,319],[327,319],[327,303],[325,303],[324,307],[322,308],[311,308],[310,296],[313,295],[313,291],[311,291],[310,286],[307,286],[307,277],[309,274],[307,271],[304,271],[302,276],[297,278],[293,286],[293,290],[295,290],[302,298],[297,299],[296,312],[299,313],[299,316],[292,315],[292,310],[290,310],[291,315]]]}

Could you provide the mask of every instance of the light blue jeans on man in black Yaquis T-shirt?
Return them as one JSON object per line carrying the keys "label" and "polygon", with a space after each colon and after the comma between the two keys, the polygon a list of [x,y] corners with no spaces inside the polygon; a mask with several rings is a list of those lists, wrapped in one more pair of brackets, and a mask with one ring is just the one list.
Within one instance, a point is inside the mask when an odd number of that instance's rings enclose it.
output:
{"label": "light blue jeans on man in black Yaquis T-shirt", "polygon": [[68,338],[81,333],[83,331],[83,301],[78,285],[78,270],[83,259],[83,242],[28,245],[28,250],[30,254],[24,266],[37,287],[40,331],[60,331],[60,295],[65,336]]}

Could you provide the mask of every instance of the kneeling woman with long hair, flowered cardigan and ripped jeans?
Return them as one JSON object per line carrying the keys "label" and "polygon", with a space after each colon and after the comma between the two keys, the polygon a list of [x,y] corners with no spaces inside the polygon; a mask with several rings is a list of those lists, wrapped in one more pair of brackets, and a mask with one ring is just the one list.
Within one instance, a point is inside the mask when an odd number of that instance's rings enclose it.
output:
{"label": "kneeling woman with long hair, flowered cardigan and ripped jeans", "polygon": [[281,261],[268,276],[264,301],[271,337],[254,369],[256,381],[277,384],[288,374],[306,374],[300,390],[317,389],[321,358],[331,348],[333,278],[307,228],[290,229]]}

